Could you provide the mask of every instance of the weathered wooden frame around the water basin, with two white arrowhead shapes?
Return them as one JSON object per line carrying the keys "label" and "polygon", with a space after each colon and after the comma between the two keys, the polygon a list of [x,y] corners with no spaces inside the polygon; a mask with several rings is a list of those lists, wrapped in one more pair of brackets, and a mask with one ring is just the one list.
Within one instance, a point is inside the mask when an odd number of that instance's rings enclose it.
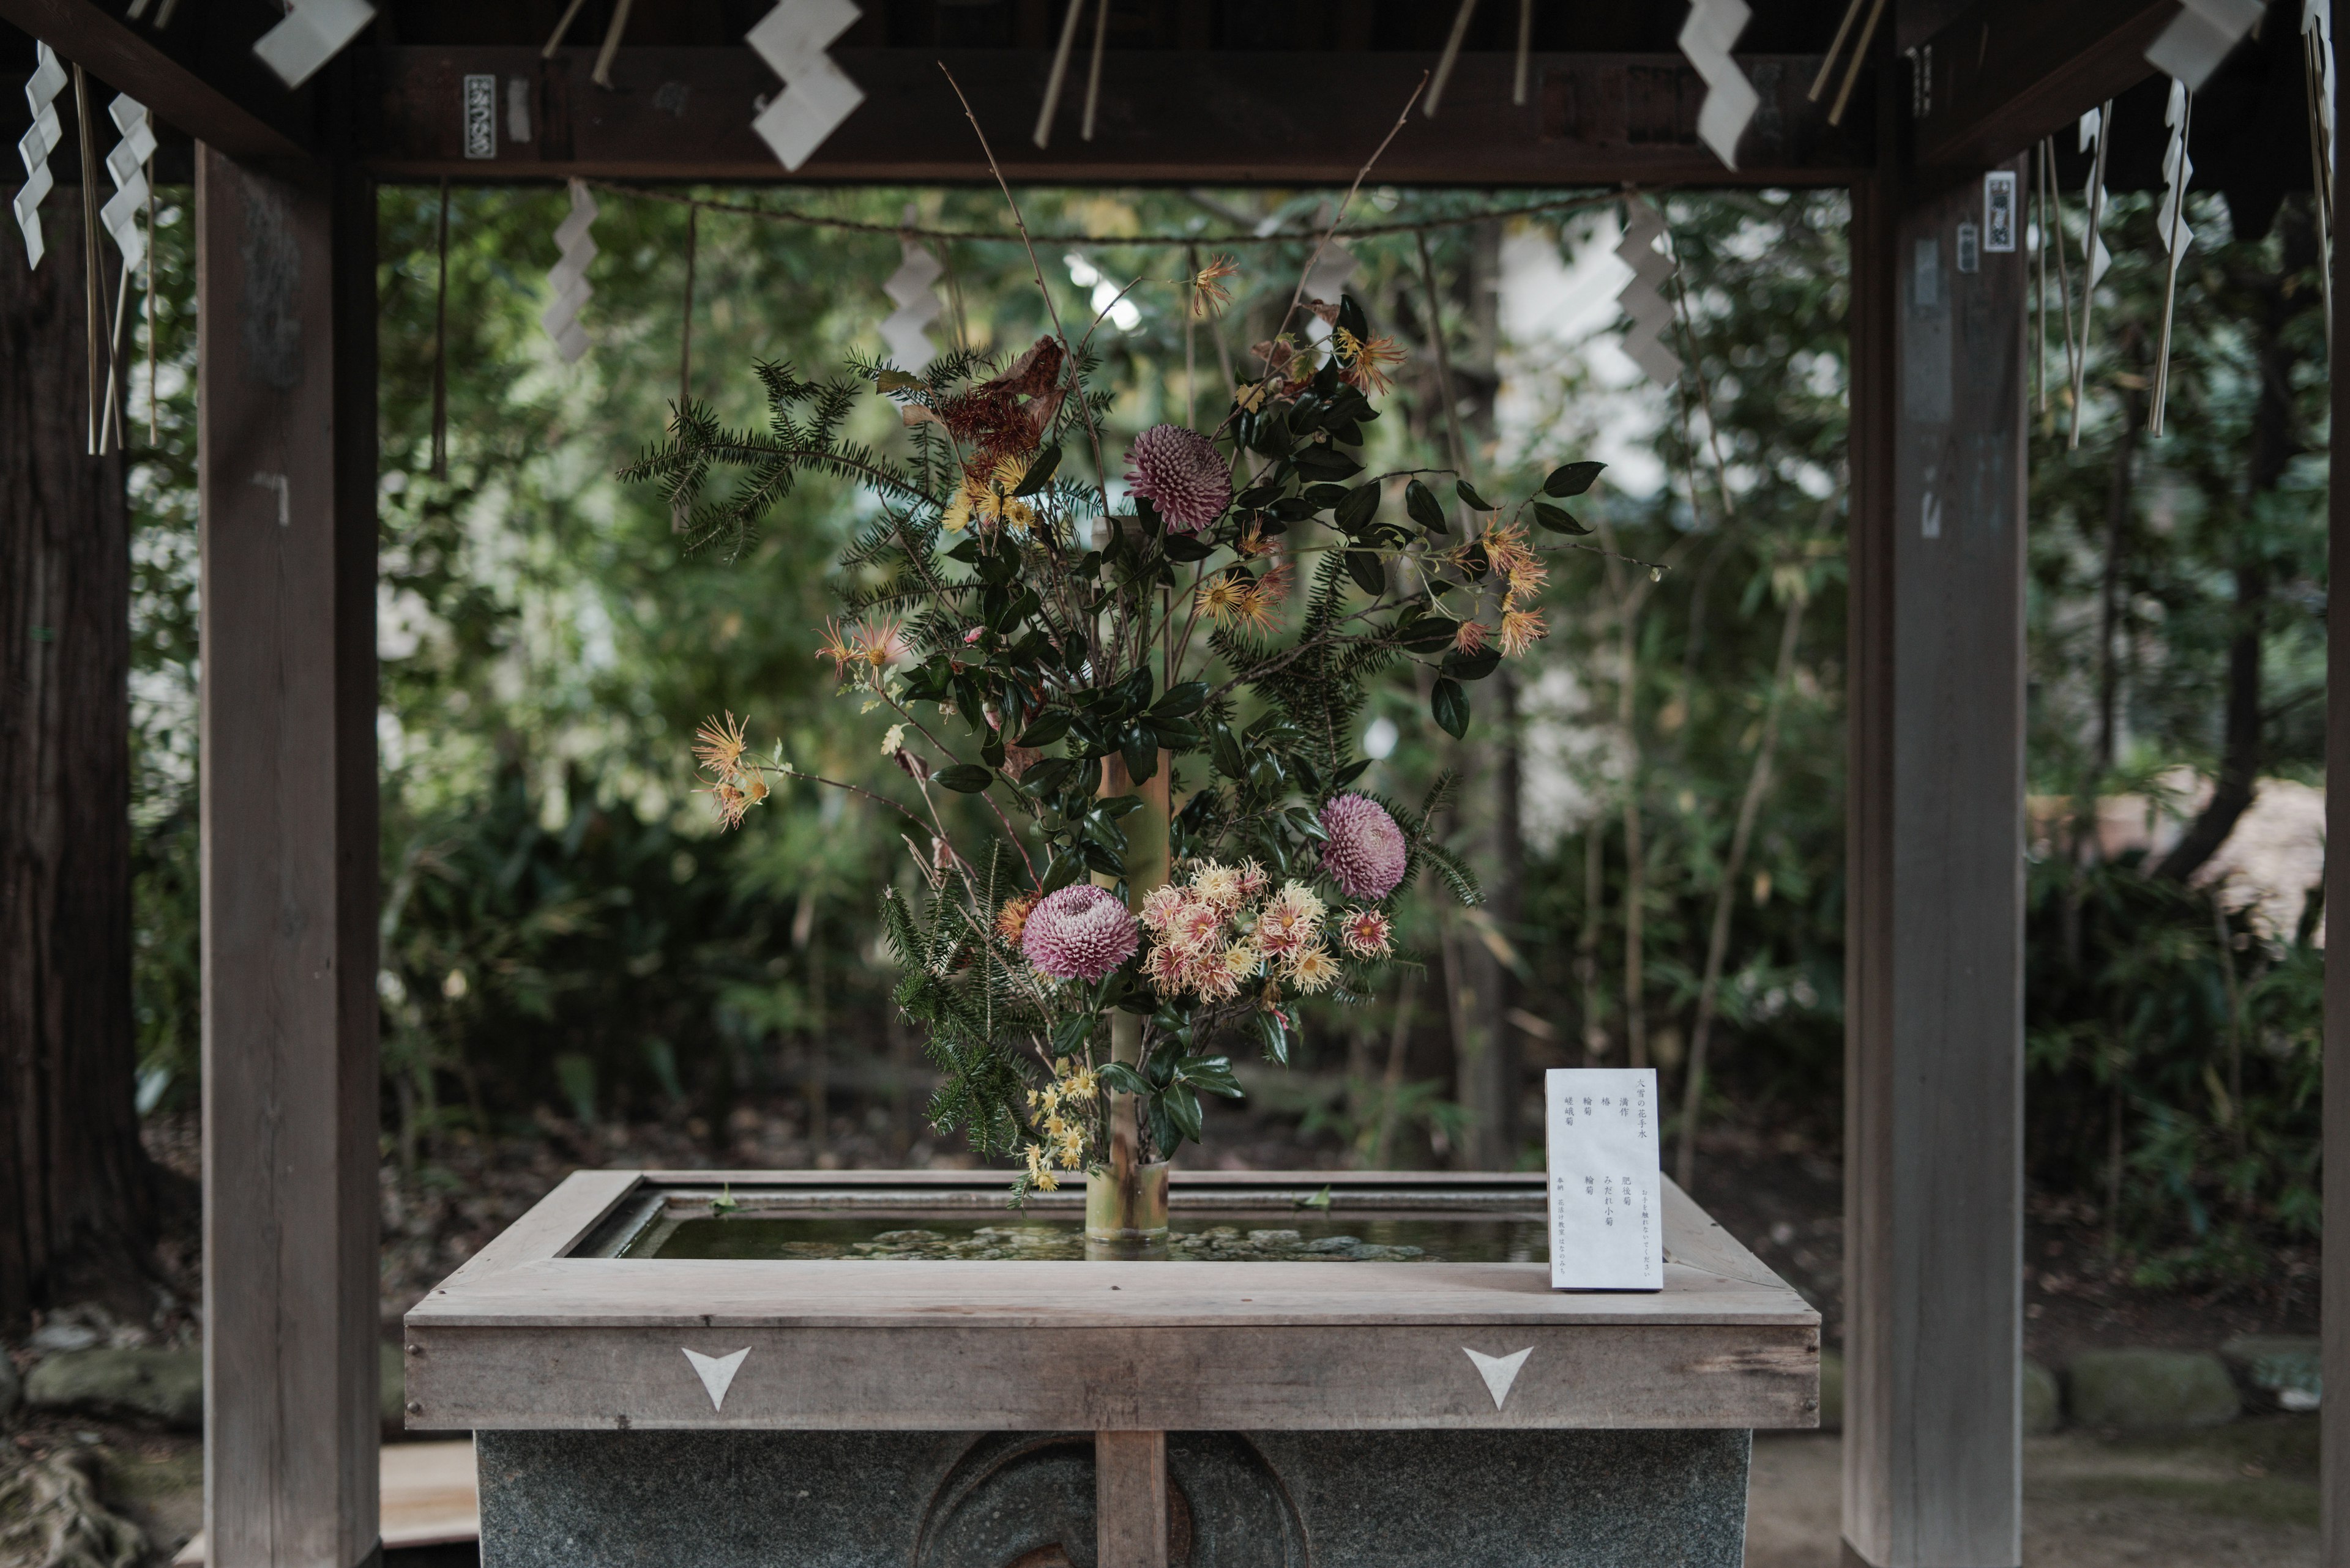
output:
{"label": "weathered wooden frame around the water basin, with two white arrowhead shapes", "polygon": [[[1812,1427],[1819,1314],[1666,1182],[1666,1284],[1553,1291],[1542,1262],[597,1258],[672,1197],[898,1197],[1001,1213],[942,1171],[583,1171],[407,1316],[411,1427],[1426,1429]],[[1542,1178],[1177,1173],[1175,1208],[1330,1185],[1542,1206]],[[1250,1204],[1264,1194],[1262,1204]],[[1015,1215],[1006,1215],[1015,1218]],[[632,1227],[630,1227],[632,1229]],[[1043,1331],[1043,1333],[1036,1333]],[[750,1349],[712,1408],[682,1354]],[[1495,1406],[1464,1349],[1532,1349]]]}

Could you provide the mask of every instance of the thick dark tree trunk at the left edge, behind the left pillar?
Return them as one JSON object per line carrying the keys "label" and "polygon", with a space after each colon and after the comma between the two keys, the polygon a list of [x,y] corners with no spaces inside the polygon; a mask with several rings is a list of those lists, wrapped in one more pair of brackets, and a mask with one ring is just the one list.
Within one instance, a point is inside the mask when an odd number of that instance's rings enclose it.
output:
{"label": "thick dark tree trunk at the left edge, behind the left pillar", "polygon": [[0,244],[0,1326],[134,1274],[129,508],[89,456],[80,190]]}

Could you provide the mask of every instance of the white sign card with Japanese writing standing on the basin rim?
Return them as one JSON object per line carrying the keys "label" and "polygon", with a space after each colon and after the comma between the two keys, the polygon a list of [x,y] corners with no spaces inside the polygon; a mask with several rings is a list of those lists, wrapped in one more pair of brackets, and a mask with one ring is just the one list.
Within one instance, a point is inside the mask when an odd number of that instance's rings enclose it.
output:
{"label": "white sign card with Japanese writing standing on the basin rim", "polygon": [[1654,1067],[1542,1074],[1551,1147],[1551,1288],[1664,1288]]}

